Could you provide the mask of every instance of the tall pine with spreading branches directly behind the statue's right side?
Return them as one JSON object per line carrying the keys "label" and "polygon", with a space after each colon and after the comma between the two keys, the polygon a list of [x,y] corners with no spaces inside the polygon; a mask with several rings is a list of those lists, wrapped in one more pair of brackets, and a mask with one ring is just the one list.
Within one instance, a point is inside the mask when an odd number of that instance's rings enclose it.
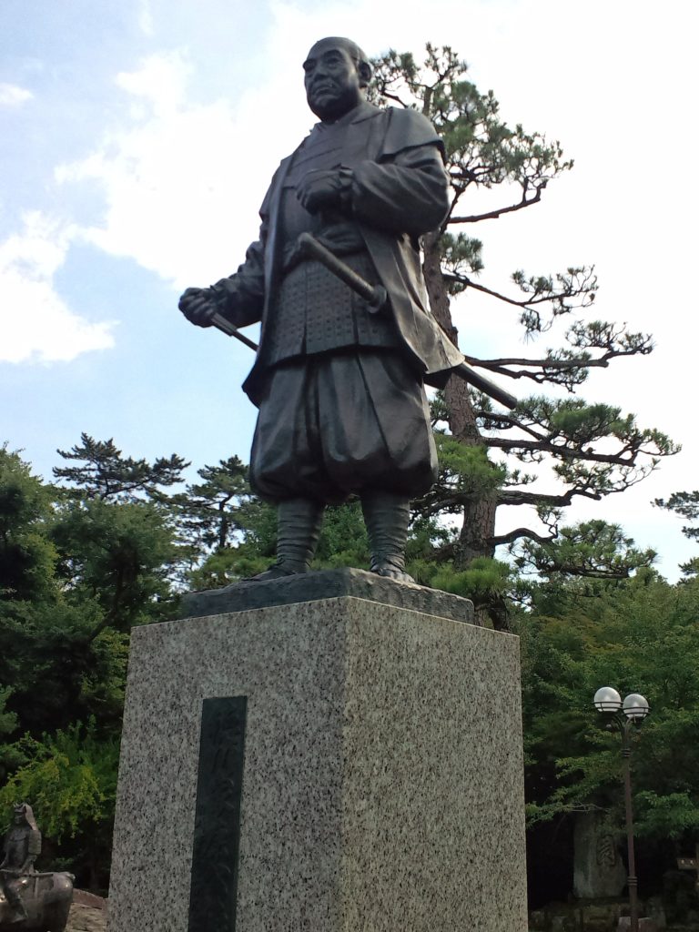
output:
{"label": "tall pine with spreading branches directly behind the statue's right side", "polygon": [[[519,269],[507,293],[480,281],[482,243],[464,230],[537,204],[551,182],[572,167],[560,144],[519,125],[508,126],[492,91],[482,93],[473,85],[466,64],[451,48],[428,45],[423,62],[411,53],[391,50],[375,65],[377,102],[420,110],[445,144],[454,199],[443,226],[423,238],[430,304],[445,333],[458,342],[450,307],[469,291],[491,296],[502,313],[514,311],[528,338],[563,327],[557,349],[523,357],[503,347],[499,358],[467,355],[467,360],[498,377],[572,393],[593,367],[650,353],[650,336],[584,317],[596,296],[593,267],[571,266],[553,274]],[[492,206],[468,212],[469,197],[477,190],[489,192]],[[514,328],[503,327],[501,332],[516,338]],[[450,542],[456,571],[468,568],[473,559],[492,557],[499,544],[555,539],[562,509],[573,500],[599,500],[622,492],[678,449],[664,433],[639,427],[633,415],[623,414],[614,404],[532,395],[522,398],[514,411],[503,411],[452,377],[440,405],[440,419],[451,436],[472,447],[473,455],[470,464],[462,460],[457,473],[443,470],[437,487],[421,508],[419,503],[416,507],[425,518],[441,515],[459,521],[458,534]],[[557,487],[534,487],[536,476],[527,469],[540,463],[550,465]],[[532,506],[547,531],[523,522],[507,534],[497,534],[495,516],[504,505]],[[506,624],[500,610],[494,612],[494,621]]]}

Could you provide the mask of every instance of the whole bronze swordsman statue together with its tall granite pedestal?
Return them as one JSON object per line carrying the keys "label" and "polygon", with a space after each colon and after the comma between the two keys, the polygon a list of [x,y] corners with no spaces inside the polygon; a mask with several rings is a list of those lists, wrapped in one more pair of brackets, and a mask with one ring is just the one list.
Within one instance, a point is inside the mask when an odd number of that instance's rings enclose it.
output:
{"label": "whole bronze swordsman statue together with its tall granite pedestal", "polygon": [[[180,300],[229,334],[262,323],[244,389],[277,562],[133,632],[109,929],[526,932],[517,639],[404,562],[437,469],[424,386],[463,359],[420,267],[449,206],[443,146],[365,101],[349,39],[304,71],[320,123],[272,179],[259,240]],[[309,572],[324,507],[349,495],[371,572]]]}

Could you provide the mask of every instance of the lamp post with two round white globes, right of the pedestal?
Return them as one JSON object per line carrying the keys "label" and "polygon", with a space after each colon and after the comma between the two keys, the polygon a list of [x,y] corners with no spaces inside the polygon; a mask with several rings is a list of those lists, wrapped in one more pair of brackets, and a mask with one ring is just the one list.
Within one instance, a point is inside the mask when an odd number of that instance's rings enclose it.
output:
{"label": "lamp post with two round white globes, right of the pedestal", "polygon": [[626,844],[628,847],[628,898],[631,910],[631,932],[638,932],[638,879],[634,855],[634,815],[631,807],[631,729],[640,725],[651,707],[637,692],[622,697],[611,686],[603,686],[595,693],[596,710],[609,719],[607,728],[618,729],[622,736],[622,761],[624,763],[624,803],[626,808]]}

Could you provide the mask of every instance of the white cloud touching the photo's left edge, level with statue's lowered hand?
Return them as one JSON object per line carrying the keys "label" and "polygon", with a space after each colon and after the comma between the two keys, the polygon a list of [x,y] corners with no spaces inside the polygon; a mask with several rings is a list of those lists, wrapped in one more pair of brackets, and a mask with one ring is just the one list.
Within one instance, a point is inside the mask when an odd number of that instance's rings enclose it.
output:
{"label": "white cloud touching the photo's left edge, level with statue's lowered hand", "polygon": [[79,317],[54,287],[74,237],[74,229],[33,212],[21,233],[0,243],[0,361],[70,362],[114,345],[111,323]]}

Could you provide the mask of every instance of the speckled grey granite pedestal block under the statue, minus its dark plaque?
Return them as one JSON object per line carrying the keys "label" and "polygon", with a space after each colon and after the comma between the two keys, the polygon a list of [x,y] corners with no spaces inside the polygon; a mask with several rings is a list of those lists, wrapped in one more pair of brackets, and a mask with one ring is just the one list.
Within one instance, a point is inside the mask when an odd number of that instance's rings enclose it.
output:
{"label": "speckled grey granite pedestal block under the statue, minus its dark plaque", "polygon": [[352,596],[134,631],[109,932],[189,932],[201,705],[234,695],[236,932],[526,932],[517,638]]}

